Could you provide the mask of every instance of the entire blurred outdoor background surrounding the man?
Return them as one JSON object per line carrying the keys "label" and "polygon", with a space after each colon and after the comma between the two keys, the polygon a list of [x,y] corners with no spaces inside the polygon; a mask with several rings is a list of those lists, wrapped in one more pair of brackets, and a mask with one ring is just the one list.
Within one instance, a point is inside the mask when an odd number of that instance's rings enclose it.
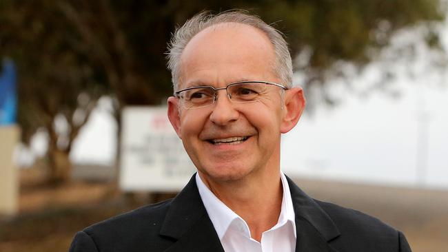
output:
{"label": "entire blurred outdoor background surrounding the man", "polygon": [[68,251],[84,227],[175,196],[194,169],[164,116],[166,44],[232,8],[285,34],[305,90],[283,171],[413,251],[446,251],[445,0],[0,0],[0,251]]}

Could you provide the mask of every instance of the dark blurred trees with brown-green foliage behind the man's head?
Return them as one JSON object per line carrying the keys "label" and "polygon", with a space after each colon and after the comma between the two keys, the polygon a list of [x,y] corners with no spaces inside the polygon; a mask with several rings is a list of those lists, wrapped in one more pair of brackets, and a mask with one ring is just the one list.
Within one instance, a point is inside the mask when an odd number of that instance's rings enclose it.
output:
{"label": "dark blurred trees with brown-green foliage behind the man's head", "polygon": [[[101,95],[114,97],[120,125],[125,105],[160,104],[171,94],[164,52],[175,25],[201,10],[232,8],[277,22],[292,55],[300,55],[295,70],[305,75],[305,89],[325,87],[341,74],[340,62],[369,63],[402,28],[427,23],[437,44],[430,24],[445,17],[440,0],[3,0],[0,55],[19,68],[23,140],[46,129],[52,178],[67,178],[72,140]],[[68,125],[65,133],[55,127],[60,121]]]}

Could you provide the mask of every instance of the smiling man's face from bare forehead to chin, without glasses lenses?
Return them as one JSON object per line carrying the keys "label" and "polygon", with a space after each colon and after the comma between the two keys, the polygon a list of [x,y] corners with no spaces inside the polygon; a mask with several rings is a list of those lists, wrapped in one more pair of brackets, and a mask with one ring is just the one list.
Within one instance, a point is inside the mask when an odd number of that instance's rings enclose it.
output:
{"label": "smiling man's face from bare forehead to chin, without glasses lenses", "polygon": [[[245,80],[279,83],[273,63],[272,44],[261,31],[237,23],[214,25],[196,34],[183,51],[179,90]],[[280,160],[281,89],[268,86],[252,103],[232,103],[225,90],[217,96],[214,104],[196,109],[179,107],[178,98],[168,100],[170,120],[201,178],[223,182],[269,176]]]}

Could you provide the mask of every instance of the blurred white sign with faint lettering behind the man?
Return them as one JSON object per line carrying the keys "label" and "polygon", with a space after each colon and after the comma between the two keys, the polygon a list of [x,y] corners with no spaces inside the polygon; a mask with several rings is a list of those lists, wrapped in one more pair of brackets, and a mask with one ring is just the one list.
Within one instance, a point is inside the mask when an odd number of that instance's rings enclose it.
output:
{"label": "blurred white sign with faint lettering behind the man", "polygon": [[196,171],[167,107],[125,107],[119,184],[124,191],[179,191]]}

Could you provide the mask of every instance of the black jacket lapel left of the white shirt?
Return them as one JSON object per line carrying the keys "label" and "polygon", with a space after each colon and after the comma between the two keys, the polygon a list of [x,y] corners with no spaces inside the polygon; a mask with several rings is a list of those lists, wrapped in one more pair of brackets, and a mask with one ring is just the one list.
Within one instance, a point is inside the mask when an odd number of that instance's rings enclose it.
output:
{"label": "black jacket lapel left of the white shirt", "polygon": [[224,252],[199,195],[195,175],[172,201],[162,224],[160,235],[174,240],[174,244],[166,252]]}

